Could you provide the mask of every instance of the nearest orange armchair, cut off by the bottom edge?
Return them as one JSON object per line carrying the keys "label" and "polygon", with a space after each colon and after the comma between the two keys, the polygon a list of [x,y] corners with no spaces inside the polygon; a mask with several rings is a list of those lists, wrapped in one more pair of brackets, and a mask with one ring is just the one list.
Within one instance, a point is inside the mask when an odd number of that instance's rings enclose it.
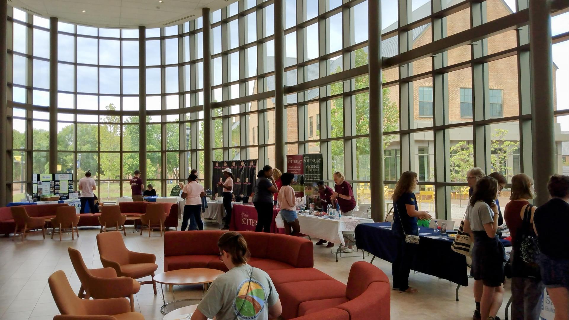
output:
{"label": "nearest orange armchair, cut off by the bottom edge", "polygon": [[[54,272],[48,279],[53,300],[61,315],[53,319],[97,319],[97,320],[143,320],[138,312],[130,311],[129,301],[125,298],[85,300],[75,296],[67,276],[61,270]],[[116,317],[114,317],[116,316]]]}

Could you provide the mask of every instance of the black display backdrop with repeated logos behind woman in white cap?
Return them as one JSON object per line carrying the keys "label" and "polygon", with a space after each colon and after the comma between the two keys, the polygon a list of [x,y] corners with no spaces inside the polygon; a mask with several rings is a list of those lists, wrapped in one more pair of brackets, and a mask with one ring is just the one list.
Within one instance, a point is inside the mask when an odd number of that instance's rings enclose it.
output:
{"label": "black display backdrop with repeated logos behind woman in white cap", "polygon": [[236,197],[248,197],[253,194],[255,180],[257,180],[257,159],[236,161],[213,161],[212,195],[221,196],[223,187],[218,187],[218,182],[224,182],[225,178],[221,170],[231,169],[235,179],[233,180],[233,194]]}

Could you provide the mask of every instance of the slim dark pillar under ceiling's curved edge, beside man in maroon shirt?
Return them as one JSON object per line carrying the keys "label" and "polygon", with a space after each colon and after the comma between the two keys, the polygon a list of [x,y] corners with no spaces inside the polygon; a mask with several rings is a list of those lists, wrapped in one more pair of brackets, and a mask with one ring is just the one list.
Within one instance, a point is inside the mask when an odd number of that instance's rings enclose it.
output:
{"label": "slim dark pillar under ceiling's curved edge, beside man in maroon shirt", "polygon": [[[146,27],[138,27],[138,170],[146,179]],[[134,174],[134,173],[126,173]]]}

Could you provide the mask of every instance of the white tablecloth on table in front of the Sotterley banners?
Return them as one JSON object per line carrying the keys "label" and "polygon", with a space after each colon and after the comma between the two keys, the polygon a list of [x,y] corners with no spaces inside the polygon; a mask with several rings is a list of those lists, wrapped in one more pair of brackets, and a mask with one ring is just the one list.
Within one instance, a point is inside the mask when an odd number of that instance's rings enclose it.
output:
{"label": "white tablecloth on table in front of the Sotterley banners", "polygon": [[[280,214],[275,218],[275,222],[281,219]],[[372,219],[343,216],[340,219],[324,219],[316,216],[298,215],[300,232],[314,238],[323,239],[332,243],[345,245],[342,232],[354,231],[360,223],[373,223]]]}

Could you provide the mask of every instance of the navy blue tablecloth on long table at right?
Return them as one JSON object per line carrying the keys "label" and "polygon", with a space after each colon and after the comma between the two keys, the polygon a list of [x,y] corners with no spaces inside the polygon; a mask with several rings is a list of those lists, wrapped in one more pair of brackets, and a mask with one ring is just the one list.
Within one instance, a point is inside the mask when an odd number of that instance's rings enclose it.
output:
{"label": "navy blue tablecloth on long table at right", "polygon": [[[393,263],[396,255],[394,243],[398,241],[397,237],[390,228],[380,228],[390,225],[389,222],[359,224],[355,231],[357,247]],[[454,239],[444,233],[434,233],[432,228],[427,227],[419,227],[419,233],[429,233],[429,235],[420,235],[417,255],[411,263],[411,270],[468,286],[466,257],[452,251],[451,244]],[[434,235],[445,237],[428,238]],[[502,240],[502,243],[505,246],[512,245],[507,240]]]}

